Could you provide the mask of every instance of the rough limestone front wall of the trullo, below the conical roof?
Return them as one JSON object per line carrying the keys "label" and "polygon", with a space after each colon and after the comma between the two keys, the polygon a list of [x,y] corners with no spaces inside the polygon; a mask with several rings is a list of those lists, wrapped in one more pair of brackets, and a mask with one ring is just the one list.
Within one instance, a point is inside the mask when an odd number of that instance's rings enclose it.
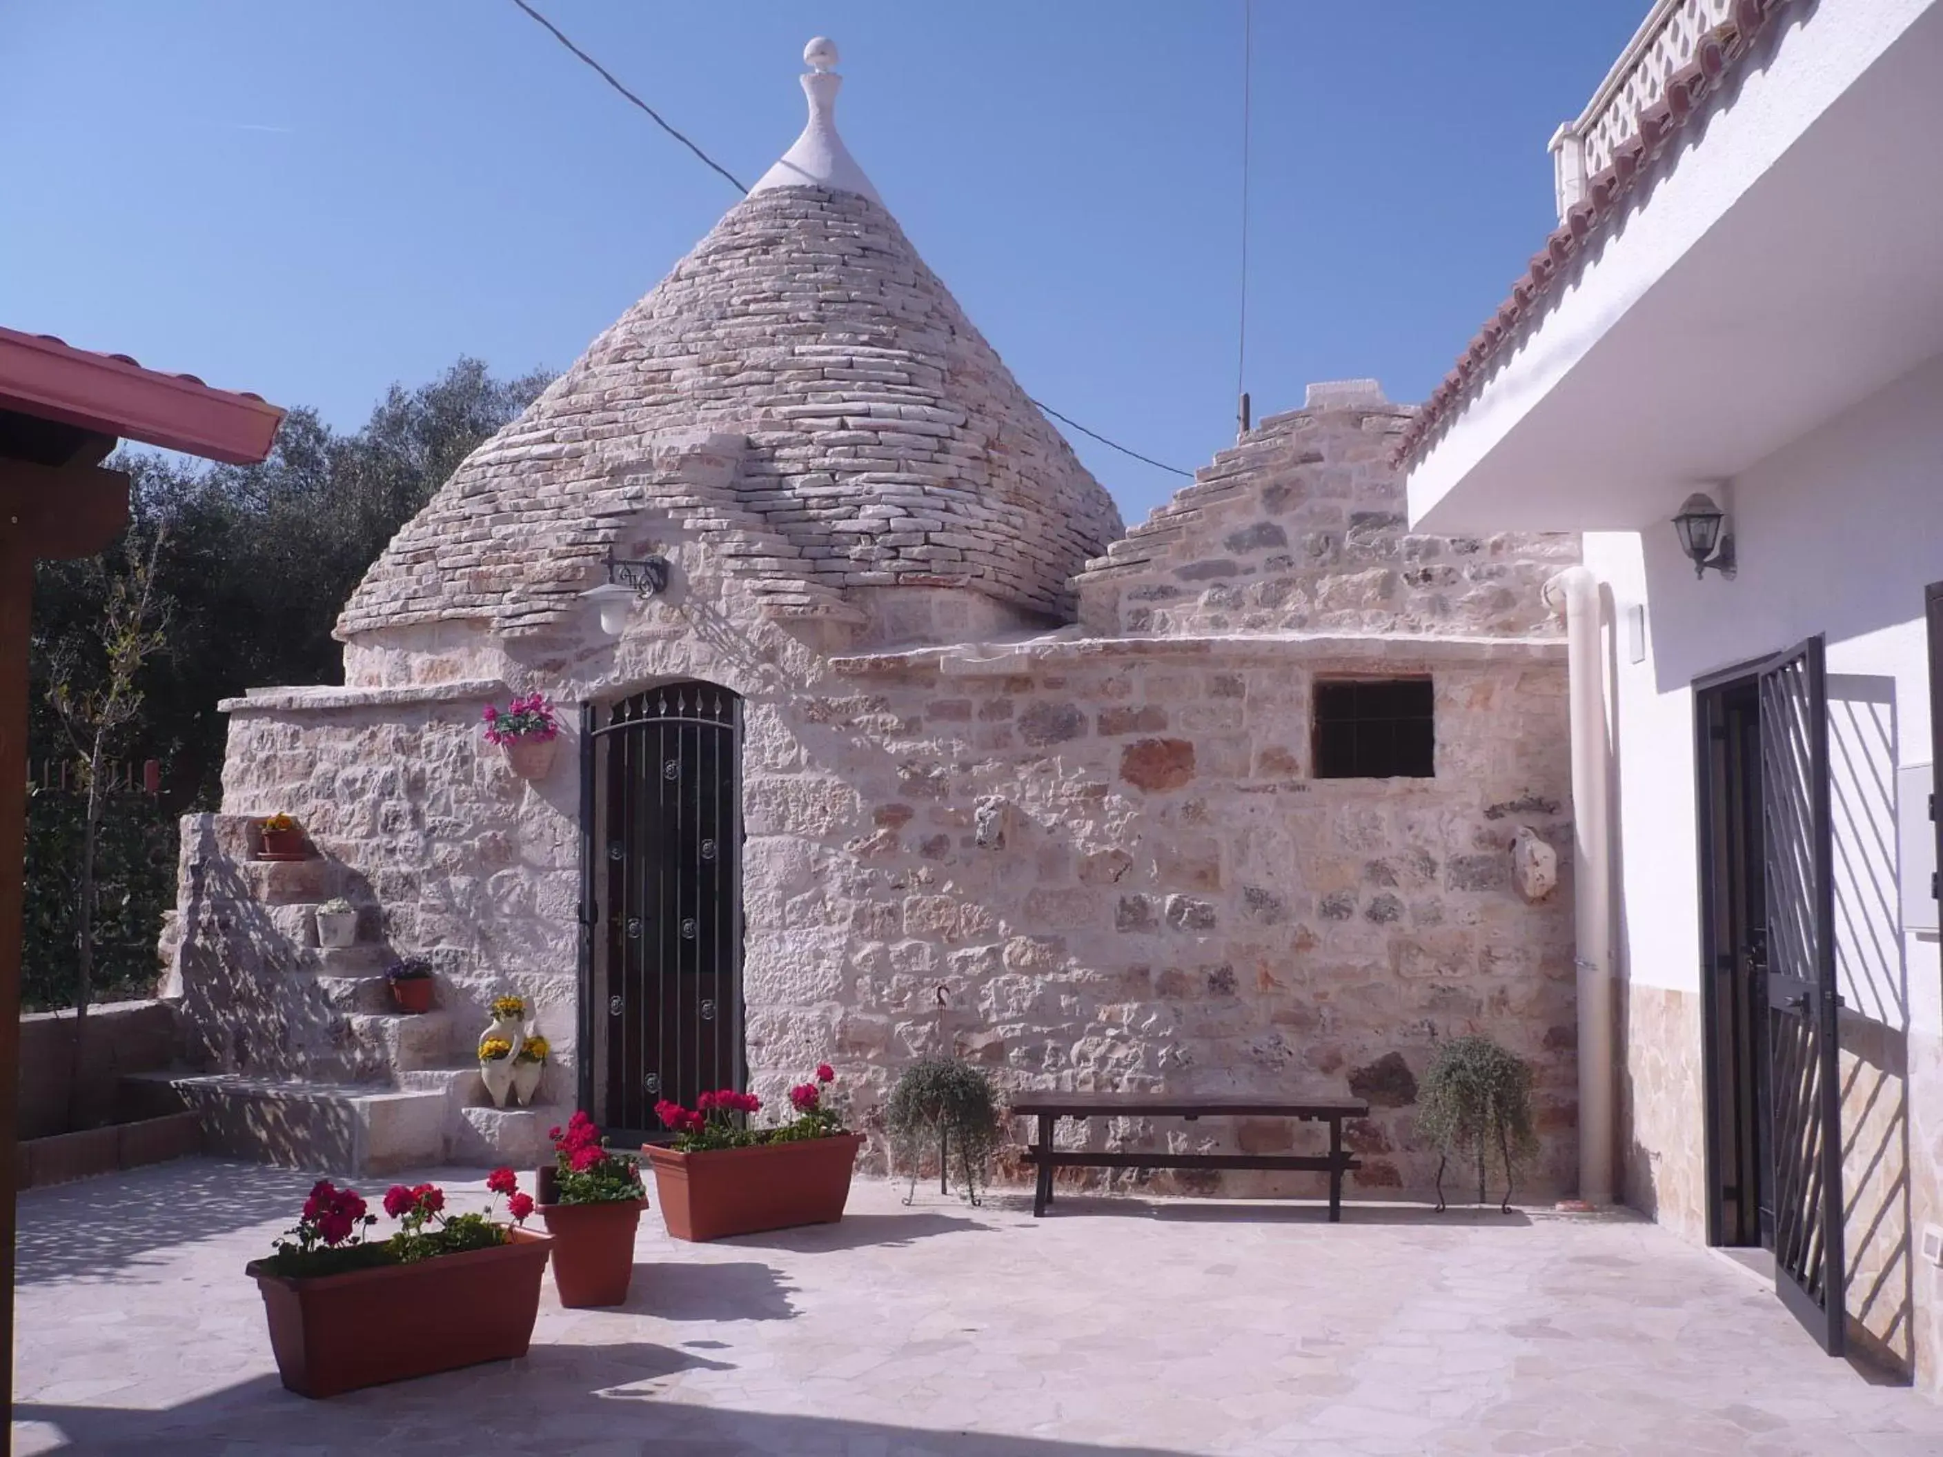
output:
{"label": "rough limestone front wall of the trullo, below the conical roof", "polygon": [[[1329,408],[1271,422],[1265,439],[1300,435],[1327,470],[1391,418]],[[719,441],[694,449],[703,466],[723,455]],[[1177,511],[1177,550],[1201,550],[1207,530],[1226,542],[1267,519],[1265,503],[1317,486],[1317,462],[1278,451],[1222,486],[1216,505],[1240,526]],[[1343,499],[1393,490],[1380,453],[1346,468],[1360,495]],[[663,474],[680,480],[680,458]],[[192,884],[245,884],[255,872],[223,835],[235,816],[288,810],[324,853],[321,874],[367,907],[369,934],[435,960],[455,1047],[470,1047],[494,993],[517,989],[554,1037],[548,1096],[571,1098],[593,1059],[573,1032],[577,728],[552,773],[525,783],[480,742],[478,711],[513,692],[598,705],[699,678],[744,699],[746,1045],[771,1103],[828,1059],[870,1125],[898,1070],[935,1049],[977,1059],[1006,1088],[1356,1094],[1374,1105],[1352,1131],[1356,1189],[1415,1197],[1436,1171],[1415,1138],[1416,1082],[1440,1039],[1484,1032],[1539,1072],[1543,1156],[1525,1193],[1570,1189],[1564,645],[1523,600],[1568,544],[1541,540],[1529,558],[1496,544],[1481,556],[1492,573],[1407,598],[1418,616],[1385,608],[1387,631],[1368,618],[1265,627],[1222,616],[1203,587],[1135,596],[1245,575],[1197,579],[1179,575],[1187,556],[1148,554],[1088,577],[1088,602],[1123,614],[1113,631],[993,641],[1006,620],[973,606],[993,598],[940,585],[857,593],[863,624],[779,618],[725,550],[733,532],[626,501],[614,519],[631,548],[672,561],[670,591],[635,608],[620,639],[583,608],[546,635],[402,622],[354,637],[348,688],[231,705],[229,818],[194,851],[200,868],[185,849],[175,946],[181,991],[227,1065],[383,1076],[336,1055],[334,1022],[256,991],[262,964],[301,966],[303,927],[270,907],[225,929],[229,911]],[[1387,540],[1401,554],[1413,538]],[[1430,546],[1411,550],[1442,559]],[[1267,573],[1267,558],[1242,558]],[[1329,591],[1327,573],[1313,583]],[[987,641],[940,641],[968,635]],[[1434,777],[1313,777],[1313,684],[1368,674],[1432,680]],[[1523,830],[1560,864],[1562,884],[1537,901],[1514,882]],[[307,1020],[253,1041],[278,1016]],[[1273,1152],[1292,1131],[1131,1121],[1067,1136]],[[882,1168],[880,1140],[870,1158]],[[1152,1187],[1210,1185],[1160,1175]],[[1313,1175],[1224,1187],[1312,1191]]]}

